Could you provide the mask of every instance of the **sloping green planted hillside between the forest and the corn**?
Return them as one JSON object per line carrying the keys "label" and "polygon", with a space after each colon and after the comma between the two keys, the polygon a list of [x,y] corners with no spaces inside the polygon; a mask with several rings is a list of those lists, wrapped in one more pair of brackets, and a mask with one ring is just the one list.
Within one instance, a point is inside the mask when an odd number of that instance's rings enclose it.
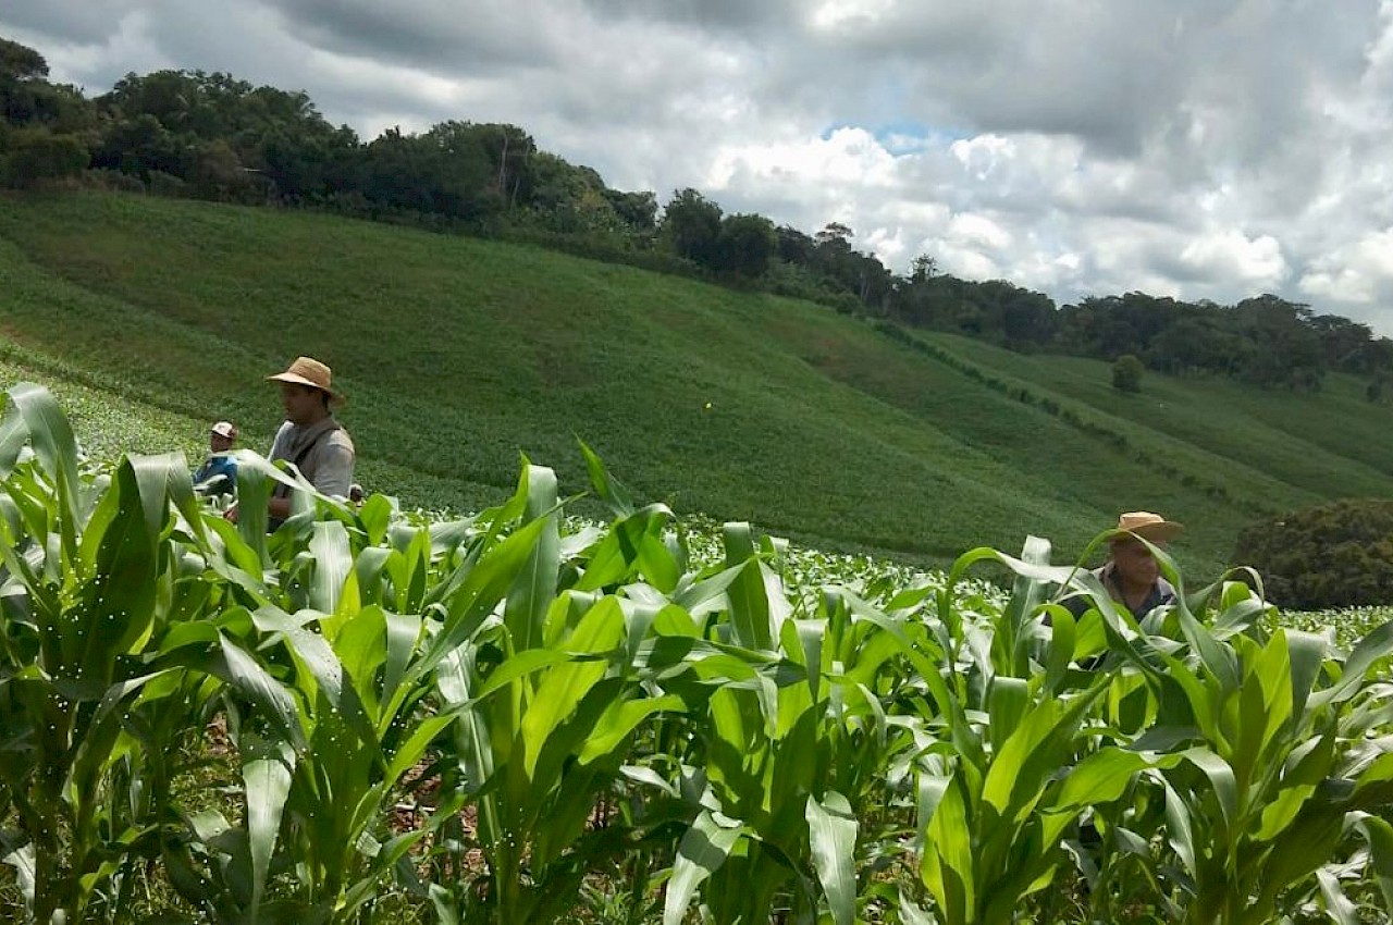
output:
{"label": "sloping green planted hillside between the forest and the corn", "polygon": [[297,212],[0,199],[0,384],[65,389],[102,454],[198,453],[223,417],[265,450],[263,378],[305,352],[350,396],[362,481],[408,504],[493,500],[520,451],[579,488],[579,436],[680,510],[929,561],[1029,532],[1073,556],[1145,507],[1212,574],[1256,517],[1393,496],[1393,411],[1339,376],[1307,396],[1148,373],[1124,396],[1102,362]]}

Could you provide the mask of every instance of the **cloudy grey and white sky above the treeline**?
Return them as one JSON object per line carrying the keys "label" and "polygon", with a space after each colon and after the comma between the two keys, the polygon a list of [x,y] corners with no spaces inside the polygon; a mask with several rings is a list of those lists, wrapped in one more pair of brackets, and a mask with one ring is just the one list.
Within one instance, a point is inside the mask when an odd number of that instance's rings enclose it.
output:
{"label": "cloudy grey and white sky above the treeline", "polygon": [[202,68],[365,138],[514,123],[896,272],[1393,336],[1393,0],[3,0],[0,35],[89,95]]}

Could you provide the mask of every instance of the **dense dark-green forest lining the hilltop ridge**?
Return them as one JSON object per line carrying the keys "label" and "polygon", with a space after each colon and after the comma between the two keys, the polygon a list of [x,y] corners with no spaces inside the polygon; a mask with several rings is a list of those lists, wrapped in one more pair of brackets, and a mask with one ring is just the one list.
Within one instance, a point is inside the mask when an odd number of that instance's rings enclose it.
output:
{"label": "dense dark-green forest lining the hilltop ridge", "polygon": [[1173,375],[1263,387],[1314,390],[1340,371],[1367,378],[1369,400],[1382,400],[1393,376],[1393,341],[1309,305],[1126,293],[1059,306],[1004,280],[940,273],[932,255],[901,276],[857,251],[843,224],[808,234],[727,215],[691,188],[659,208],[656,194],[613,189],[517,125],[446,121],[364,141],[304,92],[202,71],[128,74],[89,99],[50,81],[39,52],[3,38],[0,116],[0,181],[13,188],[86,182],[532,241],[1017,351],[1133,355]]}

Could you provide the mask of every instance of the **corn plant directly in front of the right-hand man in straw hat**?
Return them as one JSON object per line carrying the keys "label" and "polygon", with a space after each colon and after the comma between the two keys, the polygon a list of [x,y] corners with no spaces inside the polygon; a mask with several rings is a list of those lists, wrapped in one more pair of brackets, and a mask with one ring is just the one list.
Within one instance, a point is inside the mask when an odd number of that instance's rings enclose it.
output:
{"label": "corn plant directly in front of the right-hand man in straw hat", "polygon": [[[935,733],[919,762],[919,871],[943,922],[1013,921],[1067,865],[1061,843],[1077,818],[1121,797],[1146,766],[1091,727],[1109,678],[1074,667],[1068,613],[1041,621],[1050,585],[1070,578],[1048,556],[1034,538],[1021,559],[972,550],[921,614],[944,652],[918,663]],[[982,560],[1007,564],[1017,580],[1004,609],[974,620],[954,607],[953,586]]]}

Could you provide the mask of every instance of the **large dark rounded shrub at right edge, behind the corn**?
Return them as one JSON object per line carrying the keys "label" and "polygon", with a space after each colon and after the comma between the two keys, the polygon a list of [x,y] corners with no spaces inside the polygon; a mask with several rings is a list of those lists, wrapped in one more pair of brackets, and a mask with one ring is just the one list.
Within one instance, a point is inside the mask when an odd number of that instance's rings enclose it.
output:
{"label": "large dark rounded shrub at right edge, behind the corn", "polygon": [[1344,499],[1255,524],[1238,538],[1268,595],[1316,610],[1393,600],[1393,500]]}

